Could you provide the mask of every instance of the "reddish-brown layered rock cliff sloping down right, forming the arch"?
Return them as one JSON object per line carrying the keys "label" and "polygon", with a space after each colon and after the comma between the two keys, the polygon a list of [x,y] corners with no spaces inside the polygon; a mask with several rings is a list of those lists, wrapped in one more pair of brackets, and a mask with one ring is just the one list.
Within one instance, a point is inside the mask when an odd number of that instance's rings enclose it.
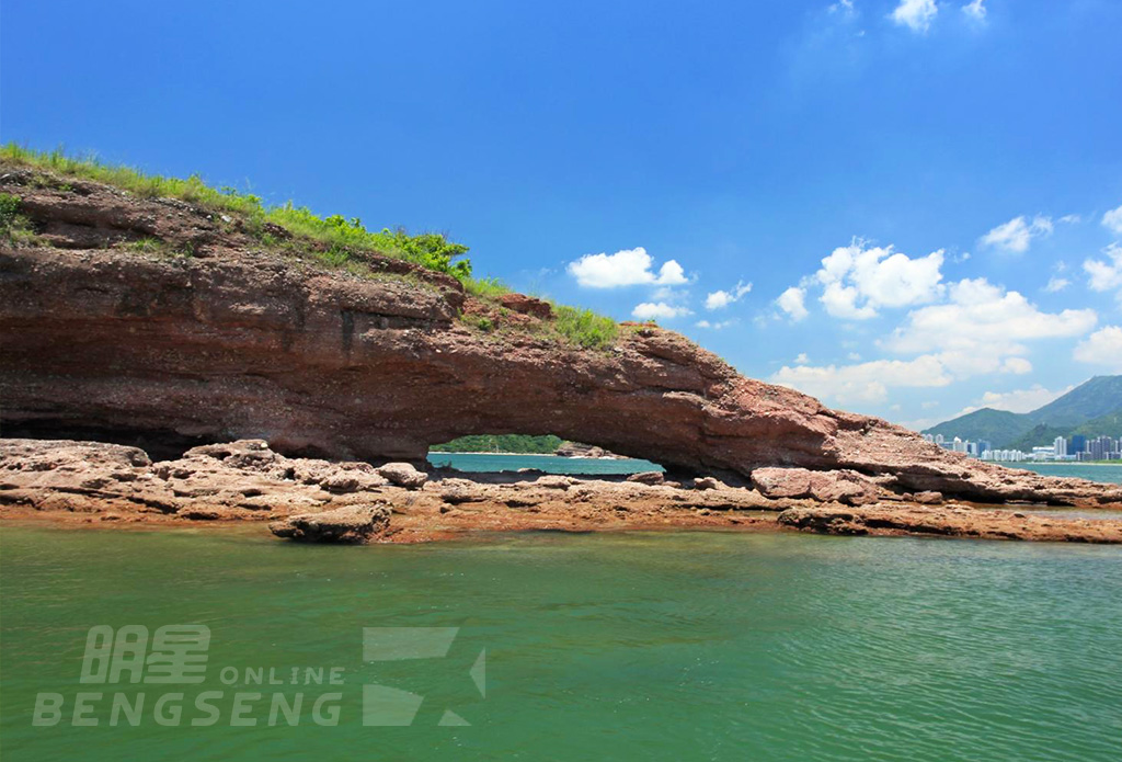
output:
{"label": "reddish-brown layered rock cliff sloping down right, forming the arch", "polygon": [[[0,251],[8,435],[255,438],[286,455],[421,462],[430,444],[463,434],[551,432],[702,476],[849,470],[978,502],[1122,502],[1122,488],[967,460],[744,378],[669,331],[625,325],[610,351],[528,329],[484,334],[458,320],[466,297],[448,276],[329,273],[260,253],[190,204],[17,175],[0,189],[54,247]],[[194,256],[90,242],[144,236]]]}

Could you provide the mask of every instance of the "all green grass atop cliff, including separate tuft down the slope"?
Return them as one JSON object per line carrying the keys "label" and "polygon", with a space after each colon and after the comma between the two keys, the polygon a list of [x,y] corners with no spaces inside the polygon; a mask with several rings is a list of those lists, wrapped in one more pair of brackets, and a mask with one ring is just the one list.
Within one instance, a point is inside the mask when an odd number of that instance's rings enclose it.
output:
{"label": "all green grass atop cliff, including separate tuft down the slope", "polygon": [[[40,152],[8,143],[0,145],[0,160],[104,183],[140,198],[178,199],[217,212],[237,214],[265,245],[277,244],[269,235],[266,223],[279,226],[295,237],[321,244],[323,250],[314,254],[332,267],[353,270],[356,255],[370,251],[452,275],[463,284],[469,294],[485,302],[495,303],[503,294],[512,291],[498,278],[472,277],[471,260],[463,256],[468,247],[448,240],[443,233],[410,235],[403,228],[371,231],[358,218],[348,220],[340,214],[320,217],[306,206],[296,206],[291,201],[267,206],[260,196],[240,193],[232,187],[212,187],[200,175],[191,175],[186,180],[164,177],[129,166],[105,164],[94,156],[68,156],[61,149]],[[554,320],[550,321],[544,332],[567,343],[605,349],[613,346],[618,337],[617,323],[591,310],[554,304],[553,314]],[[490,325],[482,324],[479,320],[470,324],[485,331],[490,330]]]}

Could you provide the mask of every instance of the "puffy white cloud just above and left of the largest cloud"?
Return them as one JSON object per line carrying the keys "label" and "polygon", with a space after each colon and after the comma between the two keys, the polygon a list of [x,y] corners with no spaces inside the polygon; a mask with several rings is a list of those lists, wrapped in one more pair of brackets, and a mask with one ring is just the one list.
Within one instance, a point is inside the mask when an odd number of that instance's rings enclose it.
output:
{"label": "puffy white cloud just above and left of the largest cloud", "polygon": [[944,293],[940,283],[944,251],[911,259],[886,248],[865,248],[854,240],[822,259],[811,282],[824,286],[819,301],[826,311],[843,320],[875,318],[881,307],[926,304]]}

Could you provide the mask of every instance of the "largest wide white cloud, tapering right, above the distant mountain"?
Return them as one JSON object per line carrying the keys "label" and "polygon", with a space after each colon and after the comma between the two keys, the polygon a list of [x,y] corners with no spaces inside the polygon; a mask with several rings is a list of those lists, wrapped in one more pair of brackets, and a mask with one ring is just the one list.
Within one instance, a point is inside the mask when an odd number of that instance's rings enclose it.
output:
{"label": "largest wide white cloud, tapering right, above the distant mountain", "polygon": [[985,373],[1005,357],[1022,355],[1023,341],[1083,336],[1097,320],[1094,310],[1041,312],[1015,291],[985,278],[964,279],[950,286],[946,304],[912,311],[883,343],[904,354],[941,350],[959,373]]}

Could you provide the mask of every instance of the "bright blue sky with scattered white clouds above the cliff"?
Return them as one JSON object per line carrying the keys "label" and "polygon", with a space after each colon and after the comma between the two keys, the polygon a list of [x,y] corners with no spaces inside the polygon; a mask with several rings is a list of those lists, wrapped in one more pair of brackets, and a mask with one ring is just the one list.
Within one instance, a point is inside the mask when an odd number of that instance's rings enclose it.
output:
{"label": "bright blue sky with scattered white clouds above the cliff", "polygon": [[1122,373],[1114,0],[0,13],[4,140],[445,231],[833,406],[921,425]]}

